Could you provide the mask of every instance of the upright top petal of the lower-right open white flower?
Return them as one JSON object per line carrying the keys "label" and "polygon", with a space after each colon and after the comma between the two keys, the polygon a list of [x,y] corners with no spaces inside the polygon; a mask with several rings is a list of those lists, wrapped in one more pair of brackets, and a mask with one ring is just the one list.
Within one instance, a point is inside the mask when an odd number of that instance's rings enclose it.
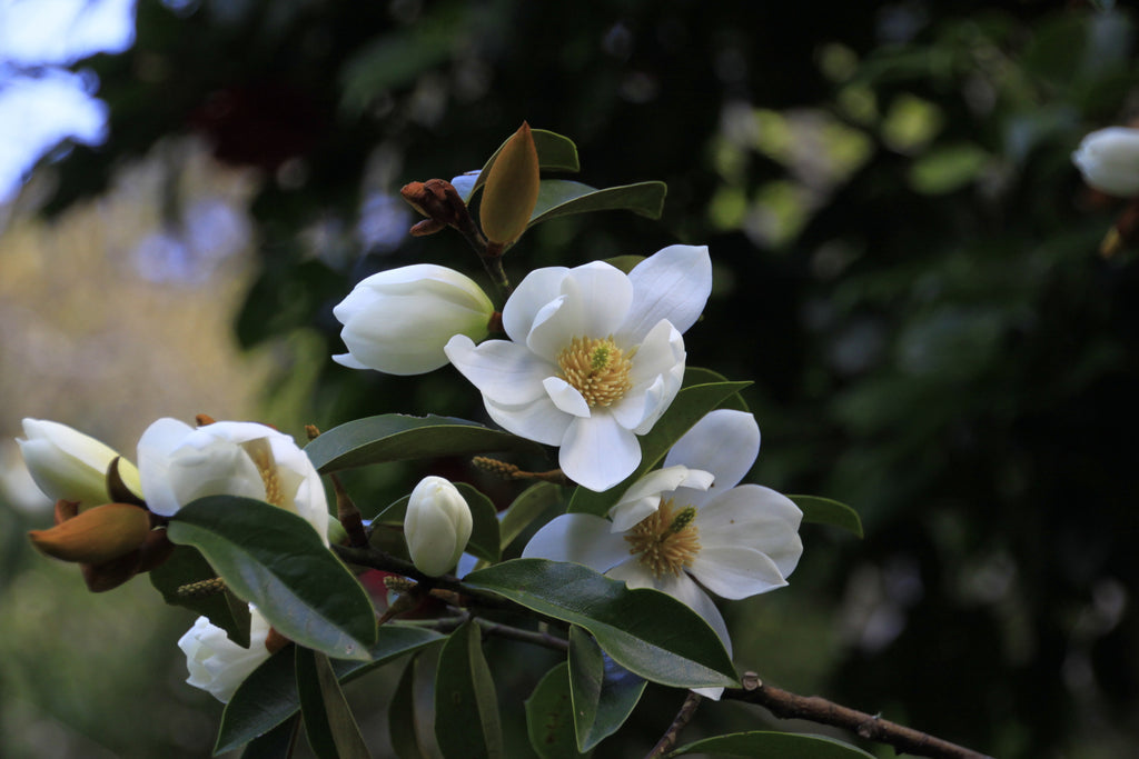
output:
{"label": "upright top petal of the lower-right open white flower", "polygon": [[[712,472],[715,485],[708,497],[735,487],[760,453],[760,426],[744,411],[720,409],[705,414],[672,446],[664,465],[685,464]],[[703,503],[705,498],[700,498]],[[694,505],[699,505],[696,503]]]}

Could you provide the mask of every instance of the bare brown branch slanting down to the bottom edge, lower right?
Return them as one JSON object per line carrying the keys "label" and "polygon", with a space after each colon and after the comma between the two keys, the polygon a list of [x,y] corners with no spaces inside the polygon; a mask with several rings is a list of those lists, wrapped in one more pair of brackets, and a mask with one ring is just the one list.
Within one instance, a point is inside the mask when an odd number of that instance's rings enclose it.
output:
{"label": "bare brown branch slanting down to the bottom edge, lower right", "polygon": [[842,727],[869,741],[892,745],[898,752],[917,757],[991,759],[940,737],[843,707],[817,695],[798,695],[772,685],[764,685],[755,673],[744,673],[740,680],[744,687],[726,690],[724,699],[757,703],[780,719],[808,719],[820,725]]}

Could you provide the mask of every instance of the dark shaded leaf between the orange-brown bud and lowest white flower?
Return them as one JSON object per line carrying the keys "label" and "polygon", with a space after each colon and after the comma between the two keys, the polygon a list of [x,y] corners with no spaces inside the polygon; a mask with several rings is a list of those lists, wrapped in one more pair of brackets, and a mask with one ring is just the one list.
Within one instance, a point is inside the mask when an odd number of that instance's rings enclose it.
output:
{"label": "dark shaded leaf between the orange-brown bud and lowest white flower", "polygon": [[188,545],[174,546],[170,558],[150,570],[150,584],[162,600],[173,607],[185,607],[210,619],[226,630],[239,646],[249,647],[249,607],[227,588],[210,595],[179,595],[178,588],[218,577],[202,553]]}

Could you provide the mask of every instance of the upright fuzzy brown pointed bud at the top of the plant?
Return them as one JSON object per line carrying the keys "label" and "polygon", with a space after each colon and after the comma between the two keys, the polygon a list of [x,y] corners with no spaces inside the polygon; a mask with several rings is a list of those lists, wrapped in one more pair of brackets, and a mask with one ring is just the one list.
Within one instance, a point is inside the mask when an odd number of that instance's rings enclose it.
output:
{"label": "upright fuzzy brown pointed bud at the top of the plant", "polygon": [[538,148],[523,122],[486,175],[478,221],[487,240],[505,247],[522,237],[538,204],[539,183]]}

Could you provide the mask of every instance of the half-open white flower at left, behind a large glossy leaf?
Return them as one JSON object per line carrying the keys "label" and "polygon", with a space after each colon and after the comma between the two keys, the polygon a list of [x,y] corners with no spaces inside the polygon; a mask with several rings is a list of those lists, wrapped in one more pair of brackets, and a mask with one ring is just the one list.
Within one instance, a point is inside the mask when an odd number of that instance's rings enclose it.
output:
{"label": "half-open white flower at left, behind a large glossy leaf", "polygon": [[207,495],[257,498],[297,514],[328,545],[328,502],[309,456],[293,438],[255,422],[214,422],[197,429],[159,419],[139,439],[147,508],[173,515]]}

